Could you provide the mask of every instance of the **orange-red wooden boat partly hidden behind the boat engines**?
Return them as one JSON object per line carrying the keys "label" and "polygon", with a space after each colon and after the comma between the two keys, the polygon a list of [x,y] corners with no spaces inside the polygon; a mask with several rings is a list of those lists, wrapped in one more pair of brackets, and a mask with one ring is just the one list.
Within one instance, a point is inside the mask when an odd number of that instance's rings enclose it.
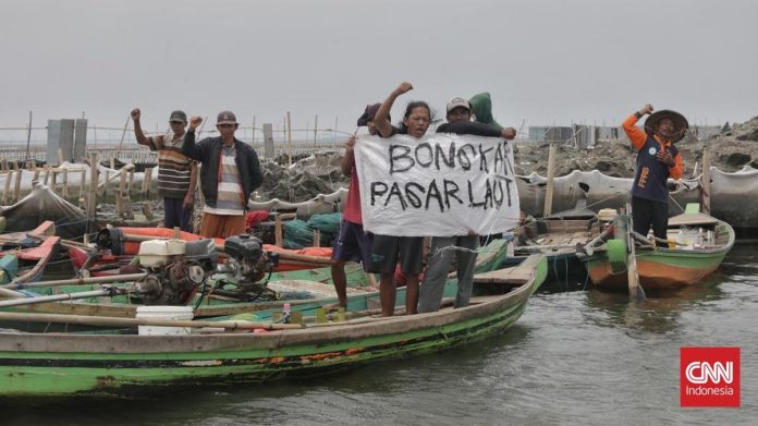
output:
{"label": "orange-red wooden boat partly hidden behind the boat engines", "polygon": [[[118,249],[87,251],[82,247],[69,248],[69,258],[75,270],[83,267],[93,277],[107,277],[119,275],[122,266],[129,265],[139,252],[139,243],[145,240],[174,239],[196,241],[204,239],[191,232],[167,228],[113,228],[121,231],[123,241],[119,242]],[[222,239],[215,239],[217,246],[223,247]],[[299,269],[313,269],[327,266],[331,261],[331,247],[306,247],[301,249],[288,249],[271,244],[264,245],[265,251],[279,254],[277,271],[290,271]]]}

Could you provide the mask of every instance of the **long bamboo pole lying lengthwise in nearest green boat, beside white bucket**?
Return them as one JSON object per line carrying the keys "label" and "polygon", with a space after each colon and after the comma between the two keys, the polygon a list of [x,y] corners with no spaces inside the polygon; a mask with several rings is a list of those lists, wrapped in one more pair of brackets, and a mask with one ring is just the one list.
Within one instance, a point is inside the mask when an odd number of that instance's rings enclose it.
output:
{"label": "long bamboo pole lying lengthwise in nearest green boat, beside white bucket", "polygon": [[80,324],[86,326],[101,327],[192,327],[192,328],[224,328],[228,330],[255,330],[262,328],[266,330],[295,330],[305,326],[301,324],[270,324],[250,321],[199,321],[199,320],[179,320],[179,319],[156,319],[156,318],[112,318],[103,316],[64,315],[64,314],[26,314],[0,312],[1,321],[24,321],[24,322],[62,322]]}

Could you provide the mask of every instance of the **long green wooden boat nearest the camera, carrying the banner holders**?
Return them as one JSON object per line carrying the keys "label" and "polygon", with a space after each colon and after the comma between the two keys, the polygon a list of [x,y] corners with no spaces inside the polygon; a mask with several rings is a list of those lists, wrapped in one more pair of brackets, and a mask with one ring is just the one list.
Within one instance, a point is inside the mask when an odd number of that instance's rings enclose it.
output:
{"label": "long green wooden boat nearest the camera, carrying the banner holders", "polygon": [[[412,316],[371,316],[371,301],[378,303],[378,294],[374,293],[360,297],[363,309],[349,313],[344,321],[323,321],[323,311],[308,309],[299,313],[304,315],[302,325],[268,320],[278,314],[276,312],[256,313],[248,318],[253,321],[240,318],[219,321],[119,319],[131,326],[212,326],[213,330],[224,330],[209,334],[112,336],[3,330],[0,331],[0,394],[144,393],[167,385],[260,382],[428,353],[484,339],[511,327],[524,313],[529,296],[546,273],[543,256],[536,255],[516,268],[475,278],[475,291],[479,287],[490,291],[498,287],[499,294],[477,292],[467,307],[443,307],[436,313]],[[453,295],[455,280],[449,280],[445,294]],[[404,304],[402,289],[398,304]],[[310,322],[318,321],[319,317],[321,322]],[[115,320],[80,318],[90,322]],[[53,319],[74,320],[51,315],[0,313],[0,320],[4,321]]]}

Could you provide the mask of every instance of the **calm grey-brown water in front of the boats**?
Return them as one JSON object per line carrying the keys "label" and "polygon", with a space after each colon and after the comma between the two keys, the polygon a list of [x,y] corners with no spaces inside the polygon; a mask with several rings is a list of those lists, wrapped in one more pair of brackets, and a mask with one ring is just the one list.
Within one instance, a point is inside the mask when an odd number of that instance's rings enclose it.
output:
{"label": "calm grey-brown water in front of the boats", "polygon": [[[756,248],[736,246],[707,282],[644,303],[539,293],[506,333],[462,349],[305,382],[0,406],[0,425],[755,425]],[[741,409],[678,406],[683,345],[742,348]]]}

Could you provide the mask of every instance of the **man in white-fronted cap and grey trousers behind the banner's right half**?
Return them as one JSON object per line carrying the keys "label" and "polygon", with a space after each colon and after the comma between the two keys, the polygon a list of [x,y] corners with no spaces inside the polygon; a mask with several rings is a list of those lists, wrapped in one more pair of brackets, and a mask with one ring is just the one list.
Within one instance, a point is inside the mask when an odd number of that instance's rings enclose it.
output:
{"label": "man in white-fronted cap and grey trousers behind the banner's right half", "polygon": [[[513,127],[498,129],[493,125],[473,122],[472,106],[461,97],[450,99],[447,107],[448,122],[437,127],[437,133],[454,133],[459,135],[478,135],[486,137],[502,137],[513,139],[516,130]],[[468,305],[474,281],[476,249],[479,247],[479,235],[435,236],[431,239],[429,260],[424,281],[419,290],[418,313],[435,312],[440,308],[444,283],[450,265],[455,256],[457,267],[457,294],[455,307]]]}

